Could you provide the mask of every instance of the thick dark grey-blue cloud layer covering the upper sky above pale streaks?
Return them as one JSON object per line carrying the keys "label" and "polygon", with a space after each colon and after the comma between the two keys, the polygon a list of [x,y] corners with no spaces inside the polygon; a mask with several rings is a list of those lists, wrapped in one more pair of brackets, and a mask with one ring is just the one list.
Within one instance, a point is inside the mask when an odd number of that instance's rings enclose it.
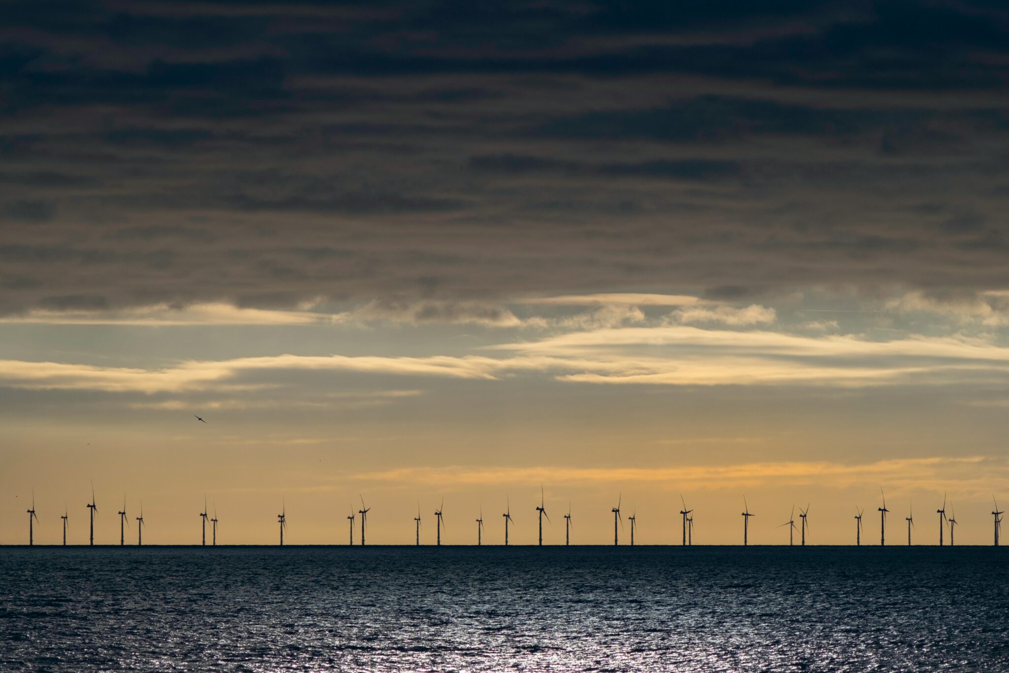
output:
{"label": "thick dark grey-blue cloud layer covering the upper sky above pale streaks", "polygon": [[4,19],[3,312],[1009,286],[997,3]]}

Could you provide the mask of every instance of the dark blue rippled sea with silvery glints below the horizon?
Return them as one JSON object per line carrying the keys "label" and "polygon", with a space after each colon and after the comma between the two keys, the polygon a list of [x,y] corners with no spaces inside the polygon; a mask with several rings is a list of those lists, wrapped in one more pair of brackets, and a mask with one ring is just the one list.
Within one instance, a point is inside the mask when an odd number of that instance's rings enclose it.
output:
{"label": "dark blue rippled sea with silvery glints below the horizon", "polygon": [[1009,550],[0,548],[2,671],[1007,671]]}

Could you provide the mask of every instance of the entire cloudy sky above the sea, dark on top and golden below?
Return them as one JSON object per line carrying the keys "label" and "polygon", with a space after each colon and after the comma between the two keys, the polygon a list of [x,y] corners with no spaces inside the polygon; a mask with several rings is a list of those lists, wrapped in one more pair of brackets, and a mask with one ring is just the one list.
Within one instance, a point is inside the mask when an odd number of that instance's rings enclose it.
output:
{"label": "entire cloudy sky above the sea, dark on top and golden below", "polygon": [[990,544],[1007,81],[987,0],[11,0],[0,544]]}

